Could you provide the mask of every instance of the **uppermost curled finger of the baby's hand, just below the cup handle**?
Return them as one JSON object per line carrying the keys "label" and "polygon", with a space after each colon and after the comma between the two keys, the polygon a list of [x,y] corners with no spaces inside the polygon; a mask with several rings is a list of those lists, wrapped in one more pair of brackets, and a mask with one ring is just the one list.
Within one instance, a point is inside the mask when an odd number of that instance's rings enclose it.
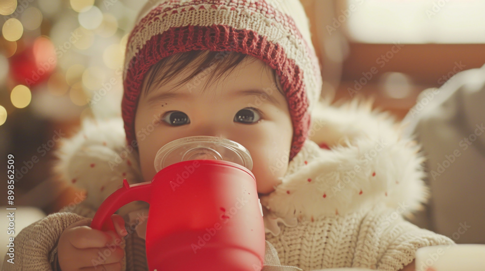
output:
{"label": "uppermost curled finger of the baby's hand, just below the cup handle", "polygon": [[88,226],[76,227],[70,229],[66,233],[69,235],[67,240],[69,240],[75,248],[80,249],[105,247],[120,238],[112,231],[100,231]]}

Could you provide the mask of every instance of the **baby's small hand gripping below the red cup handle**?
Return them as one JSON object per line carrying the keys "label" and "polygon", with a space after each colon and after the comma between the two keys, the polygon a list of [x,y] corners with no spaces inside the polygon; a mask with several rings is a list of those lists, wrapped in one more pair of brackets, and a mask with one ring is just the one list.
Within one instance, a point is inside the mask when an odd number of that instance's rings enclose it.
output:
{"label": "baby's small hand gripping below the red cup handle", "polygon": [[117,234],[89,227],[91,219],[78,221],[64,230],[57,246],[62,271],[98,268],[106,271],[121,270],[121,260],[125,256],[125,251],[119,247],[122,241],[120,236],[128,233],[120,215],[113,214],[111,219]]}

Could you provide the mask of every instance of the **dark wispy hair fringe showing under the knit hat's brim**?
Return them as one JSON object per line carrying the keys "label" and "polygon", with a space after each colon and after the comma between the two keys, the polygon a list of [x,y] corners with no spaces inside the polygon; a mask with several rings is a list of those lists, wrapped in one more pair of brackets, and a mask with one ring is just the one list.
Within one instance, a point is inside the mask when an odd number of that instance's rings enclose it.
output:
{"label": "dark wispy hair fringe showing under the knit hat's brim", "polygon": [[[208,70],[208,73],[210,73],[209,80],[206,82],[207,84],[212,81],[214,75],[217,75],[215,79],[219,79],[229,69],[232,71],[247,56],[248,55],[246,54],[235,51],[216,52],[209,50],[192,50],[177,53],[170,57],[163,58],[155,65],[150,67],[145,74],[141,91],[146,95],[152,84],[161,85],[163,82],[169,81],[183,69],[193,64],[193,62],[194,66],[196,66],[194,71],[189,76],[178,82],[176,87],[189,82],[206,69]],[[272,71],[276,86],[278,86],[278,82],[276,81],[276,71],[274,69],[272,69]],[[283,91],[280,90],[280,88],[277,89],[284,96]]]}

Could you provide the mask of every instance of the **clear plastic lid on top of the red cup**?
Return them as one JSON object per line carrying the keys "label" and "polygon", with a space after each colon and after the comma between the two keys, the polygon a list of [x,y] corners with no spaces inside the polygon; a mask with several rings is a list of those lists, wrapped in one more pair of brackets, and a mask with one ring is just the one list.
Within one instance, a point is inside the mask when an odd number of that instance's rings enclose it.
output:
{"label": "clear plastic lid on top of the red cup", "polygon": [[165,144],[155,156],[158,172],[172,164],[198,159],[224,160],[251,170],[253,160],[249,151],[241,144],[216,136],[189,136]]}

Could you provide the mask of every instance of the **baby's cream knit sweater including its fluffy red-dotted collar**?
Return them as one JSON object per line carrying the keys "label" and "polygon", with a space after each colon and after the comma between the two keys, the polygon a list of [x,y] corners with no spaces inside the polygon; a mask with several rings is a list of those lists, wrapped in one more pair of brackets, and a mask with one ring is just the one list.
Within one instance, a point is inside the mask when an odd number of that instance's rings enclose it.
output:
{"label": "baby's cream knit sweater including its fluffy red-dotted collar", "polygon": [[[412,262],[418,248],[453,243],[402,218],[427,196],[422,158],[419,148],[399,135],[387,115],[369,108],[352,103],[315,111],[313,141],[307,140],[293,158],[275,191],[260,197],[267,241],[264,271],[334,267],[398,271]],[[81,205],[66,208],[72,212],[51,214],[23,229],[15,239],[16,264],[5,262],[4,270],[55,270],[63,230],[92,217],[123,178],[130,183],[142,180],[134,154],[119,155],[126,150],[124,142],[120,119],[85,121],[77,135],[65,139],[58,172],[66,181],[76,179],[75,185],[88,197]],[[319,148],[322,143],[330,150]],[[97,164],[95,171],[81,170],[92,163]],[[143,208],[129,204],[118,211],[127,229],[129,217]],[[128,235],[126,270],[146,270],[144,243],[137,231]]]}

